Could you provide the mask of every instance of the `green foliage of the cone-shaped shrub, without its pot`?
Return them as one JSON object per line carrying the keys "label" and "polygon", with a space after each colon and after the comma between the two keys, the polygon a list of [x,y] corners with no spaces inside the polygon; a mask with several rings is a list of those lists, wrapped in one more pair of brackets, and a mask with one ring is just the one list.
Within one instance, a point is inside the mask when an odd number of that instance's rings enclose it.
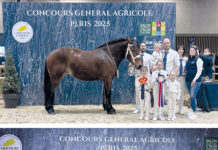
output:
{"label": "green foliage of the cone-shaped shrub, without its pot", "polygon": [[5,64],[5,80],[2,86],[3,94],[19,94],[20,93],[20,81],[18,73],[14,66],[14,59],[11,55],[11,49],[8,50],[9,55],[6,56]]}

